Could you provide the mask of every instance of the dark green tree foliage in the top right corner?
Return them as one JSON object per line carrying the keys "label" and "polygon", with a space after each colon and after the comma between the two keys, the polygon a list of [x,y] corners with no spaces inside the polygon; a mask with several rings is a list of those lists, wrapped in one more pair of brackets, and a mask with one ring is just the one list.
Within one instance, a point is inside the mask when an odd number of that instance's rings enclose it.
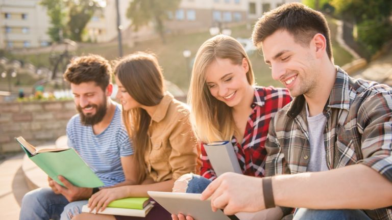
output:
{"label": "dark green tree foliage in the top right corner", "polygon": [[389,17],[392,13],[390,0],[332,0],[335,13],[342,19],[356,24],[357,41],[370,53],[376,52],[392,37]]}

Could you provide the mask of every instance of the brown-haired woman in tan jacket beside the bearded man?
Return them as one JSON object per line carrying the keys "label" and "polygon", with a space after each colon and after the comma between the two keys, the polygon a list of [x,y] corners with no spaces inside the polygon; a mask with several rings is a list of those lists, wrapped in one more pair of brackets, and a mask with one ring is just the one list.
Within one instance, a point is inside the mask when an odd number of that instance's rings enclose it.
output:
{"label": "brown-haired woman in tan jacket beside the bearded man", "polygon": [[[137,185],[102,189],[89,200],[90,209],[103,210],[113,200],[148,197],[147,191],[171,191],[181,175],[197,172],[199,154],[185,104],[165,92],[157,59],[137,52],[118,61],[114,69],[117,99],[135,150]],[[82,213],[75,219],[170,219],[156,204],[146,218]]]}

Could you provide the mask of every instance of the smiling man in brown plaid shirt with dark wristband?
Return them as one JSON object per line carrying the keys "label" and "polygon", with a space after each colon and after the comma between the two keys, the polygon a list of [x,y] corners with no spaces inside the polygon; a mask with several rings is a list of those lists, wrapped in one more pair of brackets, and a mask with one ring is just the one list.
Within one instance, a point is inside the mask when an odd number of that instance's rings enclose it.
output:
{"label": "smiling man in brown plaid shirt with dark wristband", "polygon": [[297,207],[294,219],[392,219],[391,88],[335,66],[326,19],[302,4],[265,13],[253,41],[295,97],[269,126],[273,177],[224,174],[202,199],[227,214],[277,205]]}

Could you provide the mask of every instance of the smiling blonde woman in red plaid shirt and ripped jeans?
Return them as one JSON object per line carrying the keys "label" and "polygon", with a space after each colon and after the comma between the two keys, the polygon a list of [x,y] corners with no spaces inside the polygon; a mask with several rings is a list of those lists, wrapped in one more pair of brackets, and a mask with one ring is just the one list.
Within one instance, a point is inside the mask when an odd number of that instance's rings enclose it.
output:
{"label": "smiling blonde woman in red plaid shirt and ripped jeans", "polygon": [[[232,37],[217,35],[196,54],[188,100],[198,138],[203,143],[230,140],[242,173],[263,177],[269,121],[291,97],[286,89],[254,84],[252,65],[242,45]],[[174,191],[201,193],[216,178],[203,145],[201,159],[201,176],[182,176]],[[184,219],[181,214],[172,217]]]}

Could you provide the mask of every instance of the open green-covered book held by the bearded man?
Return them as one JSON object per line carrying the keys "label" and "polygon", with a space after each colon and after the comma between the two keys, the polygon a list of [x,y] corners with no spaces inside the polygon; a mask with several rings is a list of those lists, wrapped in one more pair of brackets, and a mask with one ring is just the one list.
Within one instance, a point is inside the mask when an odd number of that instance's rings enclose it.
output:
{"label": "open green-covered book held by the bearded man", "polygon": [[63,183],[57,178],[59,175],[78,187],[94,188],[104,185],[74,148],[37,150],[21,136],[16,137],[16,141],[27,156],[60,185]]}

